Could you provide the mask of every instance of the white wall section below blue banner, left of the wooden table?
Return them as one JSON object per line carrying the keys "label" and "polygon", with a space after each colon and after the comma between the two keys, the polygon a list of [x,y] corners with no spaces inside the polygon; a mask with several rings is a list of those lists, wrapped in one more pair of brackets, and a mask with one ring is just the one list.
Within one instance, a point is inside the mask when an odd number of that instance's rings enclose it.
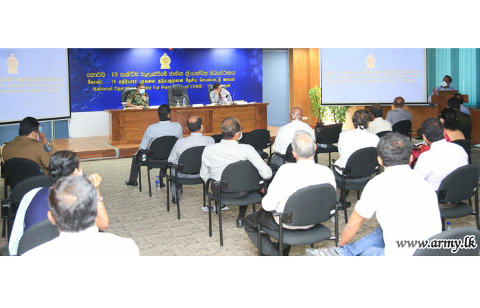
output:
{"label": "white wall section below blue banner, left of the wooden table", "polygon": [[70,137],[108,136],[108,113],[72,112]]}

